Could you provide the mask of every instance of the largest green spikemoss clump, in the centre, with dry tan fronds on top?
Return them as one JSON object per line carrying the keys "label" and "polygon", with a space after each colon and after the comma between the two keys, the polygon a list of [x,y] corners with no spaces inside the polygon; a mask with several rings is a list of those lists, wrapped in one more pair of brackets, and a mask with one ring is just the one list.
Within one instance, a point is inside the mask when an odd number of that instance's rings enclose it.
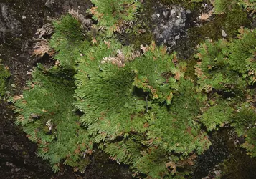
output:
{"label": "largest green spikemoss clump, in the centre, with dry tan fronds on top", "polygon": [[[129,164],[136,175],[185,175],[179,168],[210,145],[195,120],[206,97],[184,79],[186,67],[174,64],[176,55],[165,48],[153,43],[131,58],[134,52],[118,50],[117,44],[100,44],[99,54],[80,59],[75,76],[75,105],[85,113],[80,121],[112,160]],[[118,56],[111,57],[116,50]],[[109,57],[102,59],[103,52]]]}

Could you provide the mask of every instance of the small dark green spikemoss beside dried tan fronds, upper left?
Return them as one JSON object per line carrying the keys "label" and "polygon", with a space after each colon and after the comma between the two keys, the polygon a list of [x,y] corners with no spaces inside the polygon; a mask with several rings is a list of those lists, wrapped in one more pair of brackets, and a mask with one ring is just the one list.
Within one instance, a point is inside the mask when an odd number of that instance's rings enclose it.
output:
{"label": "small dark green spikemoss beside dried tan fronds, upper left", "polygon": [[90,45],[90,42],[85,38],[82,24],[70,14],[62,16],[53,24],[54,34],[50,39],[49,46],[57,52],[54,59],[62,67],[74,69],[80,50]]}

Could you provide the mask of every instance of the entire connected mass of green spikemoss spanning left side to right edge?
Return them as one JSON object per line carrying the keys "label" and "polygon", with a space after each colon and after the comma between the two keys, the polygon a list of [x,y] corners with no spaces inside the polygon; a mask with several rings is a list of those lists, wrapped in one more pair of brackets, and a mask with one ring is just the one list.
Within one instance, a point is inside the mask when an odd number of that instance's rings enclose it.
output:
{"label": "entire connected mass of green spikemoss spanning left side to right edge", "polygon": [[138,1],[92,2],[88,11],[106,31],[85,29],[72,14],[54,21],[47,45],[56,64],[38,64],[23,94],[12,98],[16,124],[55,172],[62,163],[84,172],[97,149],[135,176],[182,178],[211,145],[207,131],[226,124],[256,156],[256,31],[200,44],[194,82],[166,47],[133,49],[112,38],[136,19]]}

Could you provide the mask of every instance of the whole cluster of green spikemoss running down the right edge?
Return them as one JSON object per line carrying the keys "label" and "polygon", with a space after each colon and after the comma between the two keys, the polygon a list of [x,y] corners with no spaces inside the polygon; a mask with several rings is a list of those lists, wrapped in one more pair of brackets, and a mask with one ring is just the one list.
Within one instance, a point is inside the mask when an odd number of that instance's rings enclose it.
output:
{"label": "whole cluster of green spikemoss running down the right edge", "polygon": [[238,32],[231,42],[207,40],[199,46],[196,82],[209,95],[208,110],[202,115],[207,130],[230,123],[239,136],[245,137],[242,147],[256,156],[256,31],[241,28]]}

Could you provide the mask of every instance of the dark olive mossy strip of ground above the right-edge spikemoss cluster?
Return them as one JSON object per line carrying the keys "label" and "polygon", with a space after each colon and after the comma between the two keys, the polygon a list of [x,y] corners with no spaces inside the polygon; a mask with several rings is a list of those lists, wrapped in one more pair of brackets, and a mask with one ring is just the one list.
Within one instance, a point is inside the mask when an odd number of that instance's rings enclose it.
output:
{"label": "dark olive mossy strip of ground above the right-edge spikemoss cluster", "polygon": [[188,38],[181,39],[177,46],[182,59],[187,64],[186,76],[191,79],[196,79],[194,75],[194,65],[196,59],[196,46],[205,39],[222,39],[222,29],[227,33],[227,39],[232,39],[237,36],[237,29],[240,26],[250,26],[250,19],[247,18],[247,13],[242,8],[237,7],[235,11],[230,11],[227,14],[216,15],[214,18],[202,26],[194,26],[188,29]]}

